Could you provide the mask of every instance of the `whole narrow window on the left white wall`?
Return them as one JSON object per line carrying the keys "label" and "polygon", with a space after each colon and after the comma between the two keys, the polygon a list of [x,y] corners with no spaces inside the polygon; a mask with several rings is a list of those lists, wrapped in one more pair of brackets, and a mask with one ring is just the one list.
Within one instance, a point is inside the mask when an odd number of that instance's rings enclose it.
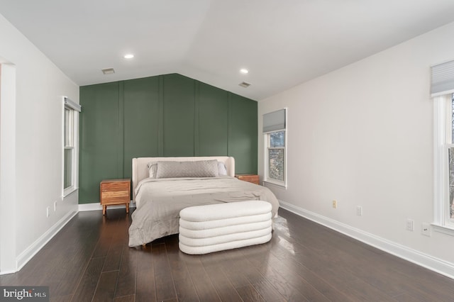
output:
{"label": "whole narrow window on the left white wall", "polygon": [[77,189],[77,125],[80,106],[64,98],[63,113],[63,196]]}

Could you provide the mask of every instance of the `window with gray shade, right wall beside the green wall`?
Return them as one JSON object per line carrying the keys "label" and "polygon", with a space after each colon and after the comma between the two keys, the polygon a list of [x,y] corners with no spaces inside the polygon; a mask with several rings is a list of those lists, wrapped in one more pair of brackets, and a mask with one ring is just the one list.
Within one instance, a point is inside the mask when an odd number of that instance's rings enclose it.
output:
{"label": "window with gray shade, right wall beside the green wall", "polygon": [[287,186],[286,113],[286,109],[282,109],[263,116],[264,180],[280,186]]}

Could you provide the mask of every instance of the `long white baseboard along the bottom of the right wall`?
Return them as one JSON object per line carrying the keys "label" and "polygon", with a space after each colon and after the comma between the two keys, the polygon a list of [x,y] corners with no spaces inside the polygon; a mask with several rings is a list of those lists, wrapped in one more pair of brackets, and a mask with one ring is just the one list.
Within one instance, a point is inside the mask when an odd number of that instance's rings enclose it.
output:
{"label": "long white baseboard along the bottom of the right wall", "polygon": [[326,216],[321,216],[317,213],[307,211],[304,208],[299,208],[298,206],[294,206],[291,203],[286,203],[285,201],[280,200],[279,203],[282,208],[295,213],[298,216],[312,220],[316,223],[326,226],[327,228],[331,228],[339,233],[343,233],[344,235],[364,242],[367,245],[376,247],[379,250],[388,252],[389,254],[405,259],[409,262],[413,262],[414,264],[418,264],[421,267],[430,269],[433,272],[437,272],[439,274],[443,274],[444,276],[448,276],[451,279],[454,279],[454,264],[451,262],[446,262],[442,259],[432,257],[431,255],[426,255],[404,245],[399,245],[396,242],[386,240],[382,237],[367,233],[358,228],[353,228],[350,225],[345,225],[344,223],[340,223],[337,220],[333,220]]}

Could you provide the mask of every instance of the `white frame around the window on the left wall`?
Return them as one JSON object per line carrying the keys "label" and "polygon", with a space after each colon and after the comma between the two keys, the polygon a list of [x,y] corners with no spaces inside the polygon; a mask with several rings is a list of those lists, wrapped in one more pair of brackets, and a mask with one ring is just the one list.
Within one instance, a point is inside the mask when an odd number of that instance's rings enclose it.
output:
{"label": "white frame around the window on the left wall", "polygon": [[[79,189],[79,112],[81,107],[79,104],[70,101],[66,96],[63,97],[63,131],[62,131],[62,196],[68,196],[72,192]],[[67,113],[68,116],[67,116]],[[66,186],[65,177],[67,173],[65,168],[67,162],[65,160],[65,154],[67,150],[71,152],[71,184]],[[65,187],[66,186],[66,187]]]}

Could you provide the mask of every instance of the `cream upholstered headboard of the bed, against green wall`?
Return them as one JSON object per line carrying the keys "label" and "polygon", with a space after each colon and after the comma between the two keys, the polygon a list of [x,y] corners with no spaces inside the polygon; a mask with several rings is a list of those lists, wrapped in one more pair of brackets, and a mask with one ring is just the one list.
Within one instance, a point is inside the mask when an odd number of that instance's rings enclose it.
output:
{"label": "cream upholstered headboard of the bed, against green wall", "polygon": [[199,160],[218,160],[226,165],[227,175],[235,177],[235,159],[229,156],[208,157],[138,157],[133,158],[133,200],[135,201],[135,187],[145,178],[148,178],[149,162],[196,162]]}

